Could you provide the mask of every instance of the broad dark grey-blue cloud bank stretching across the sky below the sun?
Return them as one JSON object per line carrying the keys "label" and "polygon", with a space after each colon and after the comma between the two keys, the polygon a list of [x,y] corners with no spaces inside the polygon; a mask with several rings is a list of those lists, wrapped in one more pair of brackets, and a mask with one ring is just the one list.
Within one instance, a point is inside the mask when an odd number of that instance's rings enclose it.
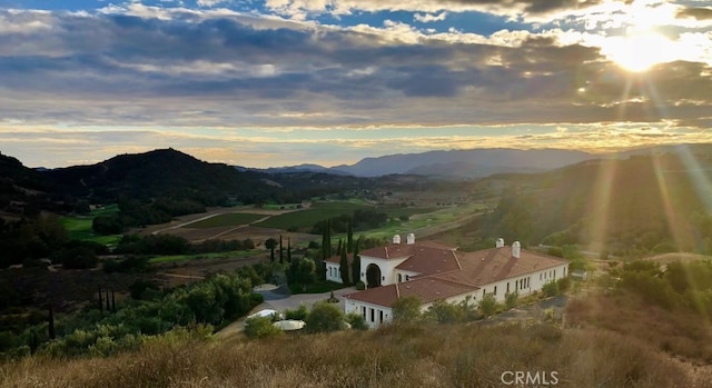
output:
{"label": "broad dark grey-blue cloud bank stretching across the sky below the sun", "polygon": [[0,117],[176,125],[199,110],[191,122],[286,126],[296,119],[281,112],[326,111],[303,122],[457,125],[689,120],[712,106],[703,63],[630,76],[595,48],[553,38],[415,44],[228,18],[36,17],[51,28],[0,29]]}

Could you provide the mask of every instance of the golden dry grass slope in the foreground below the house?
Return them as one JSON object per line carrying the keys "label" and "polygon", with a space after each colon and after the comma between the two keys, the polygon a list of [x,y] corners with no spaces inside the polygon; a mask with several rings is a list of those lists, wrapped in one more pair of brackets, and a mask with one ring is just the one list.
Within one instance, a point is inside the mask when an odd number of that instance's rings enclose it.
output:
{"label": "golden dry grass slope in the foreground below the house", "polygon": [[[407,326],[268,340],[152,341],[111,358],[3,364],[3,387],[704,387],[643,341],[555,326]],[[534,386],[534,385],[528,385]],[[544,385],[540,385],[544,386]]]}

